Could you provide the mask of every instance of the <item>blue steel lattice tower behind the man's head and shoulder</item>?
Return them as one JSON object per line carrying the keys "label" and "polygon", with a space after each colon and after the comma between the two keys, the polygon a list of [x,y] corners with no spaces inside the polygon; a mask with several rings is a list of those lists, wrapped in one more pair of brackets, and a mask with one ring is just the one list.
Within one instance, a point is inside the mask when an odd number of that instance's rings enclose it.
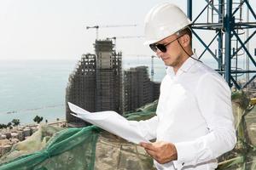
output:
{"label": "blue steel lattice tower behind the man's head and shoulder", "polygon": [[[192,19],[192,0],[187,1],[187,14],[192,23],[192,32],[204,50],[199,59],[207,52],[218,63],[220,74],[224,75],[230,87],[235,89],[247,88],[247,85],[256,78],[256,62],[253,53],[248,47],[256,31],[256,14],[248,0],[205,0],[206,6],[201,10],[195,19]],[[245,8],[247,14],[244,14]],[[207,17],[201,17],[207,11]],[[206,13],[205,13],[206,14]],[[253,15],[253,22],[248,19],[249,14]],[[206,19],[198,21],[199,19]],[[250,34],[250,30],[253,33]],[[207,43],[205,38],[200,36],[199,31],[215,31],[212,40]],[[242,41],[245,39],[245,41]],[[211,45],[218,43],[218,49],[212,49]],[[246,59],[246,68],[239,68],[239,59]],[[232,65],[233,63],[233,65]],[[238,76],[246,74],[246,81],[239,83]],[[251,77],[250,77],[251,76]]]}

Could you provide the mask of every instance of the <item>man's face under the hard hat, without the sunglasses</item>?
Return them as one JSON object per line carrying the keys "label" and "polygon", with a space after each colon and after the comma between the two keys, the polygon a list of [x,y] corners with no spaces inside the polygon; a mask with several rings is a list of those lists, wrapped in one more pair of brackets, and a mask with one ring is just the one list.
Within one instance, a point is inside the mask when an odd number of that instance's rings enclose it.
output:
{"label": "man's face under the hard hat, without the sunglasses", "polygon": [[160,42],[157,42],[160,44],[168,44],[169,42],[173,41],[172,43],[166,46],[166,53],[161,52],[159,49],[157,49],[156,51],[157,56],[159,56],[165,62],[165,65],[172,67],[180,65],[182,48],[180,47],[180,44],[177,41],[181,38],[182,37],[179,37],[176,34],[174,34],[170,37],[166,37],[165,39],[160,40]]}

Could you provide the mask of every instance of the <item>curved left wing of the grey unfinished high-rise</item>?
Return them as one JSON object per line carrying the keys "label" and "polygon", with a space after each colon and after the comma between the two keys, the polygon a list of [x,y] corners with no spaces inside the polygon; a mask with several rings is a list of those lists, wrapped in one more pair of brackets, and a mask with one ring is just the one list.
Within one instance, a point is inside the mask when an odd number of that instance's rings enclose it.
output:
{"label": "curved left wing of the grey unfinished high-rise", "polygon": [[66,88],[66,118],[70,127],[84,127],[88,123],[70,115],[67,102],[74,103],[88,111],[95,111],[96,55],[83,54],[73,73],[69,76]]}

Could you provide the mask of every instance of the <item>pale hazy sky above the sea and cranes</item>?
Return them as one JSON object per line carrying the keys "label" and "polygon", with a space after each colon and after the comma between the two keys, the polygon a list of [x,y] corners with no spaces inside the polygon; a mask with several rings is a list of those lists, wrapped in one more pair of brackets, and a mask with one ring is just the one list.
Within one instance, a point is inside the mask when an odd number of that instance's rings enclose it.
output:
{"label": "pale hazy sky above the sea and cranes", "polygon": [[[100,27],[100,39],[143,36],[145,15],[161,2],[166,0],[0,0],[0,59],[79,59],[94,53],[96,30],[86,26],[120,26]],[[187,0],[169,2],[186,12]],[[194,17],[206,5],[198,2]],[[154,54],[143,41],[117,38],[117,49],[126,56]]]}

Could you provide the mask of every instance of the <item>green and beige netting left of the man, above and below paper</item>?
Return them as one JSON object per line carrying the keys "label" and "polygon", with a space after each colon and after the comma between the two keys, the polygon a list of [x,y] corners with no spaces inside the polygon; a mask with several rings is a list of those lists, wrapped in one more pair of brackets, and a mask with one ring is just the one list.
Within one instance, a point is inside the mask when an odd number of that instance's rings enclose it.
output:
{"label": "green and beige netting left of the man, above and below paper", "polygon": [[[157,103],[125,115],[130,120],[154,116]],[[36,133],[0,158],[1,170],[154,169],[152,159],[137,144],[90,126],[41,126]]]}

